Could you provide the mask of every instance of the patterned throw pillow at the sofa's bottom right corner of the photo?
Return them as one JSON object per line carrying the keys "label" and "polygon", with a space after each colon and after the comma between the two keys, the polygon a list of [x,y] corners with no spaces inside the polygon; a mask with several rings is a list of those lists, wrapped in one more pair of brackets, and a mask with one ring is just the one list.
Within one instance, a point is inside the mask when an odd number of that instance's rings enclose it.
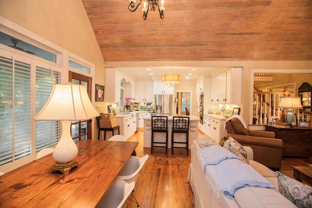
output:
{"label": "patterned throw pillow at the sofa's bottom right corner of the photo", "polygon": [[278,190],[298,208],[312,207],[312,187],[276,171]]}

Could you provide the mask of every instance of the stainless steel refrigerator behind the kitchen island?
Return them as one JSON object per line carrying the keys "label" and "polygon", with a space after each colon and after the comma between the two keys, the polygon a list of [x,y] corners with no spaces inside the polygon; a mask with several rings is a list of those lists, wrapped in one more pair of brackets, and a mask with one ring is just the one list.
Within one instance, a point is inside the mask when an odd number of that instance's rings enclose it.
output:
{"label": "stainless steel refrigerator behind the kitchen island", "polygon": [[154,95],[156,113],[172,114],[173,95]]}

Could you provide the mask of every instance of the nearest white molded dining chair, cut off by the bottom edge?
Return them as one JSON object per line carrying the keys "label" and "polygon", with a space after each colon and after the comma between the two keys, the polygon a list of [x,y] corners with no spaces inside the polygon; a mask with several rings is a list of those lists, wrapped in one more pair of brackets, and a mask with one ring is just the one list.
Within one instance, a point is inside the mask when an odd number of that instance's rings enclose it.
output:
{"label": "nearest white molded dining chair, cut off by the bottom edge", "polygon": [[98,208],[121,208],[135,188],[135,182],[127,183],[121,179],[115,179],[98,204]]}

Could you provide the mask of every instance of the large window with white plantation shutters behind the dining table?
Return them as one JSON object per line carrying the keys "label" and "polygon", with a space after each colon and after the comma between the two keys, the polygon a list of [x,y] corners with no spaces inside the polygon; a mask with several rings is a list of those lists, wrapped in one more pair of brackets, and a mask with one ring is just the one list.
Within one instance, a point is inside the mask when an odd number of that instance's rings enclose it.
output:
{"label": "large window with white plantation shutters behind the dining table", "polygon": [[52,85],[60,82],[61,73],[39,67],[44,63],[31,58],[21,59],[0,57],[0,166],[55,146],[60,137],[58,121],[34,122],[33,116],[46,103]]}

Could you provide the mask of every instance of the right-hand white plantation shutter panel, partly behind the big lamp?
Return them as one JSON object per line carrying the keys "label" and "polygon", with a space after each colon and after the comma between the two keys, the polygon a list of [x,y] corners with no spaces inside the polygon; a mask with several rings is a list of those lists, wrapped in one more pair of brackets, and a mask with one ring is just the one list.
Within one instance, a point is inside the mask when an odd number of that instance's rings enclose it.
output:
{"label": "right-hand white plantation shutter panel, partly behind the big lamp", "polygon": [[[36,114],[50,97],[53,84],[60,83],[60,73],[36,67]],[[61,122],[36,121],[36,152],[56,146],[61,136]]]}

